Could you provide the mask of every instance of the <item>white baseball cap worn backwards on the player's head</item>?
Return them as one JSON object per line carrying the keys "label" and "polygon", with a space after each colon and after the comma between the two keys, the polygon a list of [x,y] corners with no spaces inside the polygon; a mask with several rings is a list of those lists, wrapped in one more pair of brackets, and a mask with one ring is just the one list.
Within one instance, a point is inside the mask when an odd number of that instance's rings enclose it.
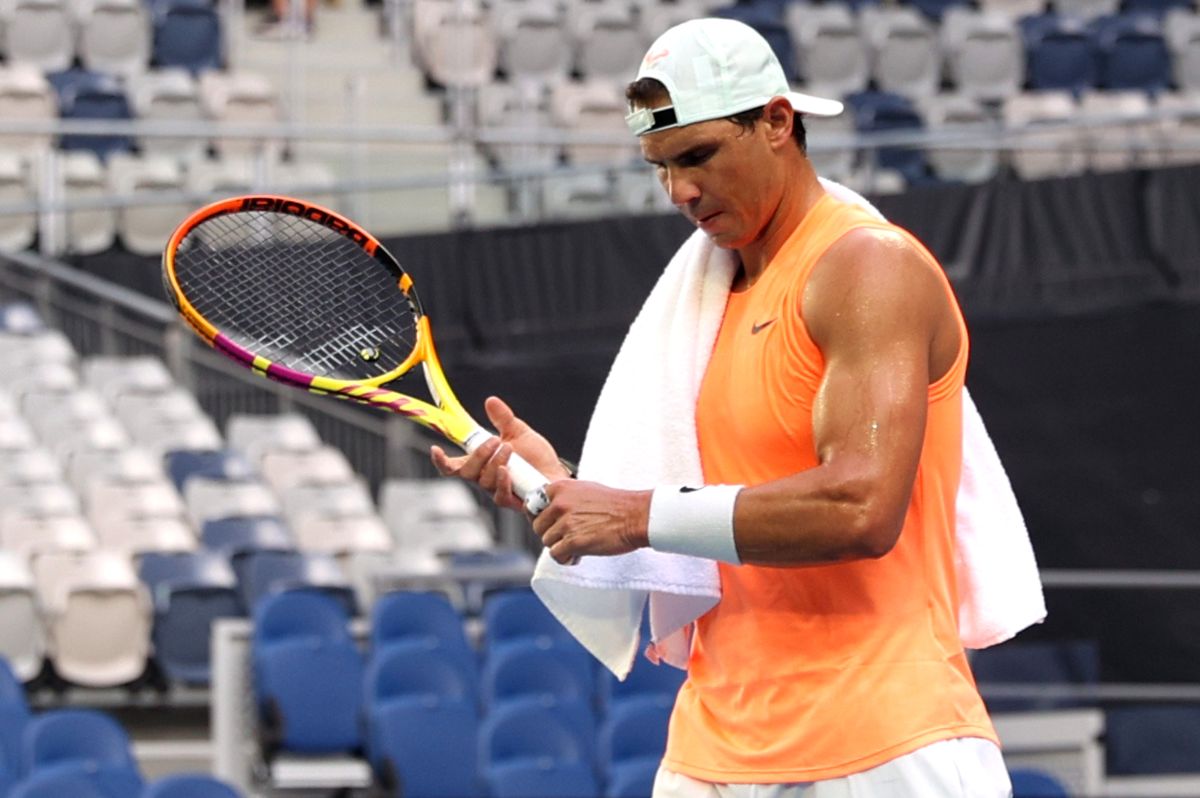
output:
{"label": "white baseball cap worn backwards on the player's head", "polygon": [[736,19],[689,19],[659,36],[642,59],[637,79],[654,78],[671,104],[638,108],[625,116],[634,136],[683,127],[766,106],[784,97],[792,109],[836,116],[842,104],[792,91],[770,44]]}

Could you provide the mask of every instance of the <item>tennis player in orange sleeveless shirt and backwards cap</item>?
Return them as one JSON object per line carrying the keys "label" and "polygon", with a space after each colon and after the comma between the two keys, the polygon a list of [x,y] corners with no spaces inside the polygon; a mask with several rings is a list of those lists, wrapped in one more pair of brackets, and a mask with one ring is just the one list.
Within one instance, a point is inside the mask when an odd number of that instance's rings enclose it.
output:
{"label": "tennis player in orange sleeveless shirt and backwards cap", "polygon": [[967,329],[943,270],[826,193],[803,116],[841,103],[792,92],[749,26],[668,30],[626,96],[672,203],[740,258],[696,407],[709,485],[565,479],[494,397],[500,438],[434,464],[506,506],[511,451],[564,478],[534,520],[560,563],[719,560],[655,798],[1010,796],[956,625]]}

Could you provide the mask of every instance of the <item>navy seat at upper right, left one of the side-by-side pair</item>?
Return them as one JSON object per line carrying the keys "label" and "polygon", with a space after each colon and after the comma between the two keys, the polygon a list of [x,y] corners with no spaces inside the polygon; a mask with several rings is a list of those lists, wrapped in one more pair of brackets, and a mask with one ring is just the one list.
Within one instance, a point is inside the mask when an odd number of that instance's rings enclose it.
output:
{"label": "navy seat at upper right, left one of the side-by-side pair", "polygon": [[1045,13],[1024,17],[1020,28],[1028,89],[1066,89],[1079,94],[1097,85],[1096,37],[1085,20]]}

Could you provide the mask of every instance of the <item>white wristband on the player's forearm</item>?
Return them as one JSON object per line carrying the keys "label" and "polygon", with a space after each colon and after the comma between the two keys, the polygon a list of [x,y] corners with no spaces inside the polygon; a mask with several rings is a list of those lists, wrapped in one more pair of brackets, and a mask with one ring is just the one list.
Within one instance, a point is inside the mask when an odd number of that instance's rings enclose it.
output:
{"label": "white wristband on the player's forearm", "polygon": [[739,564],[733,505],[742,485],[656,487],[650,494],[650,548]]}

